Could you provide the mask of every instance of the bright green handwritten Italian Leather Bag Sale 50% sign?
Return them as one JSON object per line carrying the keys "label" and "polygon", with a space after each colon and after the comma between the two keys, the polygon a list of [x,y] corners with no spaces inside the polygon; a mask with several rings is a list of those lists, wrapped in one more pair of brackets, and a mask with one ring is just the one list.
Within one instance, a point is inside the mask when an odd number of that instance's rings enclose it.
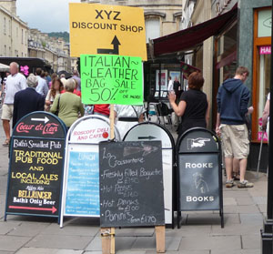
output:
{"label": "bright green handwritten Italian Leather Bag Sale 50% sign", "polygon": [[81,55],[84,104],[143,104],[141,57]]}

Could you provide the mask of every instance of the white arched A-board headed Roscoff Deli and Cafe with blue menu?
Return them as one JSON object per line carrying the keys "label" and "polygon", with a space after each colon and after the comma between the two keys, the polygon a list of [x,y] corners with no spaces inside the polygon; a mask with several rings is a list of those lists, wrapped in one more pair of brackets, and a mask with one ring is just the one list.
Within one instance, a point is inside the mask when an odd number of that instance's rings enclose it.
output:
{"label": "white arched A-board headed Roscoff Deli and Cafe with blue menu", "polygon": [[[66,162],[63,185],[63,217],[99,217],[98,143],[110,137],[109,119],[86,116],[78,119],[66,137]],[[120,140],[115,128],[116,140]]]}

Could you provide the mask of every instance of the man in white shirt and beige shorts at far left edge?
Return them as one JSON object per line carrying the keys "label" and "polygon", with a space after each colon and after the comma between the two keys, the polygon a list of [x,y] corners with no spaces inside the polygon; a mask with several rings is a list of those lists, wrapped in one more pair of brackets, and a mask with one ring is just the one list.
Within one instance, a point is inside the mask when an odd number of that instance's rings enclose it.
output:
{"label": "man in white shirt and beige shorts at far left edge", "polygon": [[10,142],[10,120],[13,117],[15,93],[24,90],[26,86],[25,76],[18,73],[19,65],[15,62],[10,64],[10,75],[5,81],[5,98],[2,108],[2,121],[5,131],[3,146],[8,147]]}

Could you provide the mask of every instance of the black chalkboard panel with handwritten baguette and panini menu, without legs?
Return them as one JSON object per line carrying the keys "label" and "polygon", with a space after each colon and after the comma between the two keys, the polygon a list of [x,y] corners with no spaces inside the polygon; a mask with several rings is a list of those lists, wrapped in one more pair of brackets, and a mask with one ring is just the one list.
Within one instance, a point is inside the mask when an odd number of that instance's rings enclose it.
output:
{"label": "black chalkboard panel with handwritten baguette and panini menu, without legs", "polygon": [[99,145],[101,227],[165,225],[160,141]]}

